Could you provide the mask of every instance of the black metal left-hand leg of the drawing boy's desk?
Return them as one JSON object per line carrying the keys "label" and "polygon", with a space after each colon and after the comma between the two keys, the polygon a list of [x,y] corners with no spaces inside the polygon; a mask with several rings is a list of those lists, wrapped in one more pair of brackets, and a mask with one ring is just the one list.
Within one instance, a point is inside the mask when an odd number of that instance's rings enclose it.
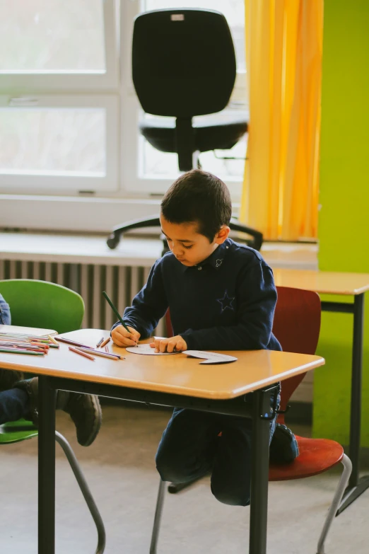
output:
{"label": "black metal left-hand leg of the drawing boy's desk", "polygon": [[55,400],[49,377],[39,377],[38,554],[55,553]]}

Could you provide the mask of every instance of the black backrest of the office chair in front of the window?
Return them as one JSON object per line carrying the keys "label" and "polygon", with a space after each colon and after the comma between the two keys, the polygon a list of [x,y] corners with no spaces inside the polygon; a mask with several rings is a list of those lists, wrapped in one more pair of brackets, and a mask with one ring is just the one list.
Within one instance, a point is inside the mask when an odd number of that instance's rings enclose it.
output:
{"label": "black backrest of the office chair in front of the window", "polygon": [[179,118],[219,112],[235,75],[235,49],[222,13],[166,9],[136,17],[132,77],[145,112]]}

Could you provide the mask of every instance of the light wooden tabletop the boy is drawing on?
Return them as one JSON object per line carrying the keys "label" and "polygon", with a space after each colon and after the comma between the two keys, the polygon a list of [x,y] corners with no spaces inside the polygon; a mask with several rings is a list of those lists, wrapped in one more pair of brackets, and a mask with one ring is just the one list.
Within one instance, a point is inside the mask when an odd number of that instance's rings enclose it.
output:
{"label": "light wooden tabletop the boy is drawing on", "polygon": [[[82,329],[62,336],[95,347],[102,336],[109,335],[106,330]],[[172,356],[132,354],[112,342],[109,343],[109,350],[124,355],[125,359],[115,361],[96,356],[92,361],[71,352],[68,345],[60,343],[59,349],[50,348],[49,354],[44,357],[0,352],[0,367],[146,391],[225,400],[324,364],[324,358],[320,356],[269,350],[223,351],[237,357],[238,361],[218,365],[199,365],[201,359],[189,358],[182,353]]]}

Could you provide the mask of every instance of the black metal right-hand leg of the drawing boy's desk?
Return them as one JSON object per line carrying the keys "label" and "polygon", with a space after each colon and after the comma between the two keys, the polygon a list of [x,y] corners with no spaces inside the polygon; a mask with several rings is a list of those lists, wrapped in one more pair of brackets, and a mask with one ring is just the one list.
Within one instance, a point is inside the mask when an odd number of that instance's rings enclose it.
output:
{"label": "black metal right-hand leg of the drawing boy's desk", "polygon": [[254,395],[249,552],[266,554],[270,421],[262,419],[262,415],[270,415],[271,392],[256,391]]}

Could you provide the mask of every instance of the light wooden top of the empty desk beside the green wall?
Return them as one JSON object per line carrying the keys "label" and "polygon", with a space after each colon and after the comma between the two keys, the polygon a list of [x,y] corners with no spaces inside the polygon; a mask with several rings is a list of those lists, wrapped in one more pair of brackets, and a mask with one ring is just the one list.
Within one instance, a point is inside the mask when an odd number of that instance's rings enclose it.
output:
{"label": "light wooden top of the empty desk beside the green wall", "polygon": [[356,295],[369,290],[368,273],[336,271],[274,270],[279,287],[293,287],[320,294]]}

